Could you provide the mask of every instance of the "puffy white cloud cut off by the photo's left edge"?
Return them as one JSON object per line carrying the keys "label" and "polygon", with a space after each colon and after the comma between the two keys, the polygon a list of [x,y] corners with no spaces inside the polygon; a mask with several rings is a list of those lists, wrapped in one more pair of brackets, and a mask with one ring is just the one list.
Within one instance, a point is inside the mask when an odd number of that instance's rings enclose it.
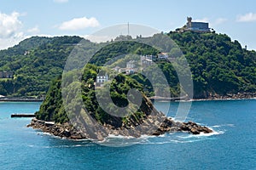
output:
{"label": "puffy white cloud cut off by the photo's left edge", "polygon": [[12,14],[0,13],[0,38],[15,36],[22,26],[19,16],[20,14],[17,12]]}

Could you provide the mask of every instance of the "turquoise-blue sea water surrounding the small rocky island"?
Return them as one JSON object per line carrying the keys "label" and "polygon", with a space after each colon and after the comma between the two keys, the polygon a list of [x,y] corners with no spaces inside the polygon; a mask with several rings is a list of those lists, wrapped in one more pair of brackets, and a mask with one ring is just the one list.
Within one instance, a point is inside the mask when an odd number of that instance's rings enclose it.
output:
{"label": "turquoise-blue sea water surrounding the small rocky island", "polygon": [[[0,103],[0,169],[256,169],[255,99],[193,102],[187,121],[212,127],[213,135],[143,137],[125,147],[58,139],[27,128],[30,118],[10,118],[39,105]],[[167,105],[172,116],[178,103],[156,104]]]}

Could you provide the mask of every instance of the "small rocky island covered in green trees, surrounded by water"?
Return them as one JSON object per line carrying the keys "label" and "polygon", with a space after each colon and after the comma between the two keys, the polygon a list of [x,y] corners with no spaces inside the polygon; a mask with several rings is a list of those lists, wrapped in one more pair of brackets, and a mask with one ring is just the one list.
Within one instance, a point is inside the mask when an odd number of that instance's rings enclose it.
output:
{"label": "small rocky island covered in green trees, surrounded by water", "polygon": [[[104,84],[105,88],[96,87],[94,82],[101,69],[96,65],[86,65],[82,82],[64,81],[61,85],[61,79],[76,77],[76,71],[56,78],[40,110],[35,113],[36,119],[28,126],[71,139],[103,140],[109,134],[158,136],[177,131],[212,133],[211,129],[194,122],[174,122],[157,111],[144,94],[141,84],[124,74],[113,77],[112,82]],[[63,86],[63,83],[67,83],[67,86]],[[106,90],[108,86],[110,94]],[[140,97],[129,93],[131,89],[137,89]],[[62,98],[61,94],[65,97]],[[108,102],[108,94],[113,103]],[[103,105],[100,101],[103,101]]]}

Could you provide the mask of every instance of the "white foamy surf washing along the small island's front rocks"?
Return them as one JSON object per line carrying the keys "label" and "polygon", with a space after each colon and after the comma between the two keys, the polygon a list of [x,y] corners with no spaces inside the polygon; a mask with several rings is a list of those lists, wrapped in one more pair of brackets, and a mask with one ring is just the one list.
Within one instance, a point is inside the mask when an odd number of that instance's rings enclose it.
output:
{"label": "white foamy surf washing along the small island's front rocks", "polygon": [[135,137],[127,137],[122,135],[113,135],[109,134],[107,138],[103,139],[102,141],[96,139],[65,139],[56,137],[50,133],[43,133],[39,132],[40,135],[49,135],[55,139],[64,139],[73,142],[79,142],[76,144],[61,144],[55,146],[45,146],[44,148],[67,148],[67,147],[87,147],[94,144],[105,145],[109,147],[125,147],[133,144],[183,144],[183,143],[192,143],[192,142],[199,142],[201,140],[207,139],[216,139],[212,138],[212,136],[224,134],[224,130],[219,129],[223,126],[234,126],[233,124],[225,124],[225,125],[213,125],[210,127],[213,133],[200,133],[200,134],[191,134],[191,133],[164,133],[160,136],[149,136],[149,135],[142,135],[140,138]]}

